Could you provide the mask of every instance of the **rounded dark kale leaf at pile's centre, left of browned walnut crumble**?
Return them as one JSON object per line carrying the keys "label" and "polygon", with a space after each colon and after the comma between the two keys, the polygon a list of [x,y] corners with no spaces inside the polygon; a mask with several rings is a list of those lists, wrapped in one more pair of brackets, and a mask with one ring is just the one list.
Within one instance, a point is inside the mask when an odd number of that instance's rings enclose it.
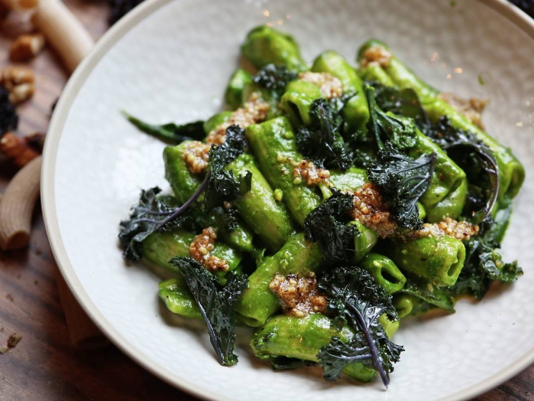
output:
{"label": "rounded dark kale leaf at pile's centre, left of browned walnut crumble", "polygon": [[316,241],[328,263],[348,261],[347,251],[359,230],[347,224],[349,212],[354,207],[354,196],[334,191],[326,202],[313,209],[304,219],[304,233],[308,240]]}

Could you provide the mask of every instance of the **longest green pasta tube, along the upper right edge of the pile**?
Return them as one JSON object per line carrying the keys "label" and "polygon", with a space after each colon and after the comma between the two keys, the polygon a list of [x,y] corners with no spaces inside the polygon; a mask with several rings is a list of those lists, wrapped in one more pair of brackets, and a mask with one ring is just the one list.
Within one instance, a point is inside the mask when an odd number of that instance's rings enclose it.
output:
{"label": "longest green pasta tube, along the upper right edge of the pile", "polygon": [[[364,51],[374,46],[389,51],[386,44],[371,40],[360,48],[358,58],[362,58]],[[482,129],[469,121],[465,115],[456,111],[454,107],[443,99],[436,97],[439,91],[419,79],[397,57],[391,57],[389,64],[384,66],[384,71],[387,72],[396,86],[401,89],[412,88],[417,93],[419,101],[428,113],[430,120],[436,121],[440,117],[446,116],[449,118],[453,127],[472,132],[490,148],[497,159],[497,165],[499,167],[499,202],[503,202],[505,197],[514,197],[517,195],[517,192],[519,192],[523,184],[525,171],[511,150],[494,140],[494,138],[486,134]]]}

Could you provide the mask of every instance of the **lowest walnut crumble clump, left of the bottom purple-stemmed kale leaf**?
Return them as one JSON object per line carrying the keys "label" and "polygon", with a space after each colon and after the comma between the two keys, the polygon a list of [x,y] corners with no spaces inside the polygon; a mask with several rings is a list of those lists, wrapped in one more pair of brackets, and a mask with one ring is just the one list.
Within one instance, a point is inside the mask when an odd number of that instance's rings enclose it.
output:
{"label": "lowest walnut crumble clump, left of the bottom purple-stemmed kale leaf", "polygon": [[300,277],[297,274],[274,275],[269,289],[280,299],[282,311],[295,318],[303,318],[310,313],[325,313],[326,297],[317,292],[315,273]]}

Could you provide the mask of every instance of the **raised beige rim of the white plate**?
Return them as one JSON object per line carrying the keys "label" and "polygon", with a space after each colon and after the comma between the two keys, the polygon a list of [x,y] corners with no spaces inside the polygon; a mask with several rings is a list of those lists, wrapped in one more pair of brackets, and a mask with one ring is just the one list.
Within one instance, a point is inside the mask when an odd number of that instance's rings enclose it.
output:
{"label": "raised beige rim of the white plate", "polygon": [[[176,373],[169,371],[146,357],[142,350],[136,348],[126,340],[111,322],[104,317],[95,303],[92,302],[87,291],[83,288],[82,283],[78,279],[74,268],[70,263],[65,245],[61,239],[56,211],[54,178],[58,145],[74,99],[80,92],[85,80],[87,80],[88,76],[93,71],[93,68],[97,66],[109,49],[111,49],[113,45],[132,28],[171,1],[172,0],[146,0],[133,9],[119,22],[107,30],[68,79],[65,88],[61,92],[57,106],[54,109],[46,134],[41,164],[41,206],[46,235],[48,236],[50,248],[59,271],[64,277],[69,290],[72,292],[77,302],[82,306],[85,313],[89,315],[91,320],[102,333],[129,358],[164,382],[167,382],[195,397],[206,400],[227,401],[231,400],[231,398],[221,396],[216,392],[207,389],[199,389],[189,381],[182,379]],[[534,40],[534,19],[530,18],[527,13],[523,12],[518,7],[506,0],[477,0],[477,2],[497,11],[501,16],[513,22]],[[534,363],[534,347],[526,352],[521,358],[516,359],[513,363],[500,369],[499,372],[491,375],[484,381],[474,384],[465,390],[454,392],[447,397],[439,398],[439,401],[467,400],[473,398],[497,387],[501,383],[504,383],[532,363]]]}

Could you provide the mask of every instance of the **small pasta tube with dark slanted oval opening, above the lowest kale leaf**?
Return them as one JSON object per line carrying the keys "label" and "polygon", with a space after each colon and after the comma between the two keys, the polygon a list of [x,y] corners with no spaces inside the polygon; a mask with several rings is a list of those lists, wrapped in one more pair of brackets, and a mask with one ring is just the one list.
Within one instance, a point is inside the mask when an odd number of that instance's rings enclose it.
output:
{"label": "small pasta tube with dark slanted oval opening, above the lowest kale leaf", "polygon": [[369,253],[360,261],[359,266],[371,273],[376,282],[388,294],[402,290],[406,283],[406,277],[400,272],[394,261],[379,253]]}

